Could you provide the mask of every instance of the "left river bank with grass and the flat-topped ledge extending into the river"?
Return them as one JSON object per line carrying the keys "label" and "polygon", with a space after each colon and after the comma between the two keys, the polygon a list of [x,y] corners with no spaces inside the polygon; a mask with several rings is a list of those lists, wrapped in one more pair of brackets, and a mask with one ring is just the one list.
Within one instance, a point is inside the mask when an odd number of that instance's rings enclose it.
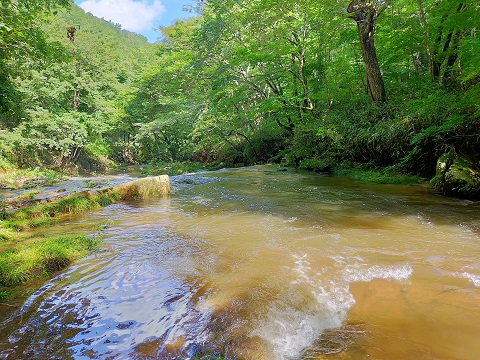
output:
{"label": "left river bank with grass and the flat-topped ledge extending into the river", "polygon": [[118,200],[140,200],[169,192],[166,175],[142,179],[123,175],[70,178],[28,198],[11,193],[3,200],[0,214],[0,300],[9,297],[10,287],[48,277],[100,245],[98,234],[42,238],[34,229]]}

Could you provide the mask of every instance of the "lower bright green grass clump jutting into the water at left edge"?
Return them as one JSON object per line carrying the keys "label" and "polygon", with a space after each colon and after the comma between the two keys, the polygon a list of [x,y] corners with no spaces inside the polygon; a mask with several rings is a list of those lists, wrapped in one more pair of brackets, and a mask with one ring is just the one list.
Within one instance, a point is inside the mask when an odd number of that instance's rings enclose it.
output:
{"label": "lower bright green grass clump jutting into the water at left edge", "polygon": [[100,240],[95,237],[74,235],[41,239],[3,250],[0,252],[0,292],[5,297],[7,287],[51,275],[99,244]]}

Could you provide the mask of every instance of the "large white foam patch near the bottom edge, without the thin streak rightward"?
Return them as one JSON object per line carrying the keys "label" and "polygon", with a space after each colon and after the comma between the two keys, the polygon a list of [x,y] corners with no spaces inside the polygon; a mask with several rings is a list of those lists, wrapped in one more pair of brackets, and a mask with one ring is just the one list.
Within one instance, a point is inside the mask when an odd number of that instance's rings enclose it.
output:
{"label": "large white foam patch near the bottom edge, without the thin streak rightward", "polygon": [[325,330],[342,326],[355,303],[348,284],[324,282],[312,274],[307,255],[294,255],[296,280],[273,301],[265,318],[252,332],[272,347],[275,359],[295,359]]}

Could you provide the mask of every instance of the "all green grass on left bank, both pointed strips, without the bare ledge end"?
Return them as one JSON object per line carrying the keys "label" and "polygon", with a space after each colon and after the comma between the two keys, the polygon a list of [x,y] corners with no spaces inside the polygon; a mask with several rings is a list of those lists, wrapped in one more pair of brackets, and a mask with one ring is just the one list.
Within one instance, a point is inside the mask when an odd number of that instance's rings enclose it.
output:
{"label": "all green grass on left bank, both pointed strips, without the bare ledge end", "polygon": [[12,287],[42,278],[67,267],[99,246],[96,237],[78,235],[53,239],[26,239],[25,230],[57,222],[62,216],[112,204],[113,191],[79,193],[37,204],[0,217],[0,301],[14,296]]}

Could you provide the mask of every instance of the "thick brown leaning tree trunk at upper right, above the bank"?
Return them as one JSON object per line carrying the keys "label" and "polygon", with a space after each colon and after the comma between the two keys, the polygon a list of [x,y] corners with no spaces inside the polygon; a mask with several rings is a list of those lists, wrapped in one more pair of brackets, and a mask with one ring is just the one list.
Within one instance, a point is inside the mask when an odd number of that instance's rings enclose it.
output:
{"label": "thick brown leaning tree trunk at upper right, above the bank", "polygon": [[367,78],[367,93],[373,102],[385,102],[385,85],[378,65],[377,51],[374,42],[374,27],[377,19],[375,5],[361,0],[354,0],[347,11],[357,23],[358,36],[362,49],[363,65]]}

